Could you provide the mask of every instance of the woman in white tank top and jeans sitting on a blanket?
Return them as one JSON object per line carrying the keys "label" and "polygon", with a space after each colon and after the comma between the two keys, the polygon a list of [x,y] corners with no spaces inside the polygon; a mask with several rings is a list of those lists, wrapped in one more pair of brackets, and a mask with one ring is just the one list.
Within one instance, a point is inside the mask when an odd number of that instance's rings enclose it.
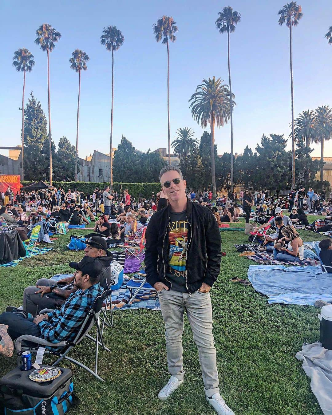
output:
{"label": "woman in white tank top and jeans sitting on a blanket", "polygon": [[278,261],[298,262],[303,260],[304,246],[303,240],[298,232],[292,226],[285,226],[281,229],[283,237],[278,240],[279,243],[288,242],[287,248],[273,249],[273,258]]}

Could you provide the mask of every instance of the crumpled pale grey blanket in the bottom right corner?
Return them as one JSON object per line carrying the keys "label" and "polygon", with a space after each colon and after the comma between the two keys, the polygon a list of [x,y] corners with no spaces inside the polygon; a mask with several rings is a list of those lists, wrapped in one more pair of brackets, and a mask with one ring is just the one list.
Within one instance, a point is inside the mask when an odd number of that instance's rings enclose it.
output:
{"label": "crumpled pale grey blanket in the bottom right corner", "polygon": [[322,343],[304,343],[296,353],[302,360],[302,369],[311,379],[310,388],[317,398],[324,415],[332,415],[332,350],[322,347]]}

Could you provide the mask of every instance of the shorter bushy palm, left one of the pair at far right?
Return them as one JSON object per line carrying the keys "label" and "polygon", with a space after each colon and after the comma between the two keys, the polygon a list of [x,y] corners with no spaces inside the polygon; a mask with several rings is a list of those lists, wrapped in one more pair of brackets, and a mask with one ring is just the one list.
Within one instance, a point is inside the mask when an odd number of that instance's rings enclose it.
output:
{"label": "shorter bushy palm, left one of the pair at far right", "polygon": [[[318,143],[318,122],[314,110],[302,111],[298,118],[294,120],[294,138],[295,143],[305,141],[305,146],[309,147],[312,143]],[[289,134],[291,137],[292,133]]]}

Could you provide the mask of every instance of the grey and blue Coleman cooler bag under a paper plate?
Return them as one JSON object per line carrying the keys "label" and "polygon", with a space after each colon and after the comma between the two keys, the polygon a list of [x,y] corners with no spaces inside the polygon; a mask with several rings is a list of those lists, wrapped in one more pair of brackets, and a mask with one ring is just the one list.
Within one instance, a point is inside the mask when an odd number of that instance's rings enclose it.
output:
{"label": "grey and blue Coleman cooler bag under a paper plate", "polygon": [[[5,415],[63,415],[73,402],[73,381],[70,369],[41,365],[51,374],[60,369],[60,376],[35,382],[29,378],[35,369],[17,367],[0,379],[0,408]],[[56,370],[55,370],[56,371]],[[47,376],[48,374],[46,374]]]}

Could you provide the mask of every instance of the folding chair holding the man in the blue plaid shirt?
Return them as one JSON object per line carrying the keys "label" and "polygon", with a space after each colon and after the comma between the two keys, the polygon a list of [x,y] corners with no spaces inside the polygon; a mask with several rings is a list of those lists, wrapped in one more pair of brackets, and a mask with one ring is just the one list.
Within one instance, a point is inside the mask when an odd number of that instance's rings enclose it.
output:
{"label": "folding chair holding the man in the blue plaid shirt", "polygon": [[[23,352],[30,352],[32,354],[37,354],[39,347],[47,347],[44,353],[59,356],[59,359],[57,359],[52,366],[58,366],[61,360],[67,359],[73,362],[74,364],[76,364],[77,366],[80,366],[81,368],[85,369],[91,375],[95,376],[95,378],[99,379],[100,381],[104,381],[104,379],[101,378],[97,373],[98,347],[102,346],[103,349],[107,350],[108,352],[110,352],[110,349],[107,349],[107,347],[105,347],[103,343],[103,338],[101,336],[98,318],[100,315],[101,308],[103,306],[103,301],[109,295],[110,295],[110,292],[107,290],[101,293],[96,298],[92,308],[89,310],[84,321],[81,323],[81,328],[78,331],[75,339],[73,339],[71,342],[67,342],[66,340],[63,340],[62,342],[59,342],[59,343],[51,343],[45,339],[41,339],[36,336],[30,336],[29,334],[24,334],[23,336],[18,337],[18,339],[15,342],[15,349],[17,352],[17,364],[20,364],[20,359],[21,359],[20,356],[22,356]],[[51,311],[54,311],[54,310],[51,310]],[[41,312],[47,312],[47,310],[42,310]],[[94,325],[96,325],[97,327],[96,338],[93,338],[88,334]],[[96,345],[95,370],[94,371],[88,368],[88,366],[85,366],[85,364],[79,362],[78,360],[67,356],[67,354],[71,351],[71,349],[75,347],[76,344],[80,343],[84,339],[84,337],[88,337],[89,339],[93,340]],[[34,343],[35,346],[30,346],[31,343]],[[60,350],[58,350],[59,348]]]}

